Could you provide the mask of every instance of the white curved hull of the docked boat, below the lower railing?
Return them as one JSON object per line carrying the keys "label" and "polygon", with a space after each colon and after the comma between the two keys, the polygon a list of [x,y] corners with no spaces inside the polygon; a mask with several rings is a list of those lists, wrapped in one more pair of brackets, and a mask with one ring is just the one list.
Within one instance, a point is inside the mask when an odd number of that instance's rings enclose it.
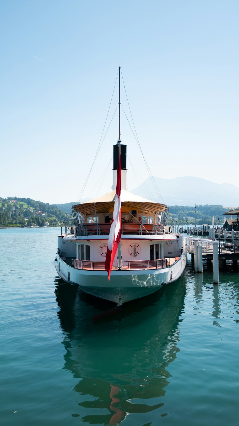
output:
{"label": "white curved hull of the docked boat, below the lower railing", "polygon": [[163,284],[174,282],[183,273],[186,266],[186,256],[172,265],[162,269],[146,269],[137,271],[112,271],[110,282],[106,271],[87,271],[67,265],[59,255],[55,260],[56,271],[62,279],[73,285],[78,285],[87,294],[109,300],[118,304],[139,299],[159,290]]}

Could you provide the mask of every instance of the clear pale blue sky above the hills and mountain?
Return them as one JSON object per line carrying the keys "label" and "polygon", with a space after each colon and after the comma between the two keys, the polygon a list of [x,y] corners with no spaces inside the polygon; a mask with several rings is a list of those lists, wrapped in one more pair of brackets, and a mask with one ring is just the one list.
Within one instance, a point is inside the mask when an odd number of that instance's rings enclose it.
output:
{"label": "clear pale blue sky above the hills and mountain", "polygon": [[0,196],[111,191],[119,66],[129,190],[149,177],[136,133],[153,176],[239,187],[238,22],[237,0],[0,2]]}

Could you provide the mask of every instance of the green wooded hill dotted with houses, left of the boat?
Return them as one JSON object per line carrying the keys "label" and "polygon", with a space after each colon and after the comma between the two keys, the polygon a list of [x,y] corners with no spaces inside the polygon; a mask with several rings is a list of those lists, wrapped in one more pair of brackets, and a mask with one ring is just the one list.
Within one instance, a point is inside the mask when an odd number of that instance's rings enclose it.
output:
{"label": "green wooded hill dotted with houses, left of the boat", "polygon": [[[70,213],[59,209],[55,204],[43,203],[31,198],[0,197],[0,226],[37,225],[60,226],[70,218]],[[71,224],[71,223],[70,223]]]}

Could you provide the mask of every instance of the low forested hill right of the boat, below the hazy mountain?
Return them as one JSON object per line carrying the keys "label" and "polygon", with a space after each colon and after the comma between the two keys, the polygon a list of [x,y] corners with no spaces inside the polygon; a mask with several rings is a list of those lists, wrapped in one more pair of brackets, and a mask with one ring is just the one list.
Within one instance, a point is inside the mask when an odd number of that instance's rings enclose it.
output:
{"label": "low forested hill right of the boat, below the hazy mountain", "polygon": [[[195,214],[196,207],[196,214]],[[169,216],[176,219],[180,225],[184,225],[186,220],[188,224],[192,223],[195,225],[202,224],[212,224],[212,216],[217,222],[217,219],[220,218],[220,223],[224,223],[223,213],[230,208],[222,207],[222,205],[217,204],[206,204],[206,205],[194,205],[194,206],[171,206],[169,207]]]}

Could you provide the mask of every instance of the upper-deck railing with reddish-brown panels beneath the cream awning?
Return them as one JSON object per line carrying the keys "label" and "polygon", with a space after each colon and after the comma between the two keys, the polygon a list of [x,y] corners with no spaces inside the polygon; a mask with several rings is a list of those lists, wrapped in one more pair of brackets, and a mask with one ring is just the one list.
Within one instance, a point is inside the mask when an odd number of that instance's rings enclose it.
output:
{"label": "upper-deck railing with reddish-brown panels beneath the cream awning", "polygon": [[[109,235],[110,223],[97,223],[77,225],[77,236]],[[159,224],[137,224],[122,223],[122,235],[163,235],[163,225]]]}

